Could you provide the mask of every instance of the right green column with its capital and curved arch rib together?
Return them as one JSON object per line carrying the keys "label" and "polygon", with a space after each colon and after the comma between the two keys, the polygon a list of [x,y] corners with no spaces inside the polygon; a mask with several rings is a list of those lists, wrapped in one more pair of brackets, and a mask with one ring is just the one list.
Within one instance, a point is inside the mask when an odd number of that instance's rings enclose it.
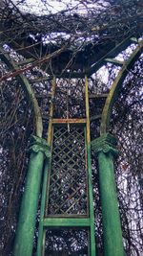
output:
{"label": "right green column with its capital and curved arch rib together", "polygon": [[141,55],[142,48],[143,40],[139,42],[130,58],[124,62],[113,81],[102,112],[101,135],[92,141],[92,148],[98,154],[105,256],[125,255],[113,172],[113,156],[117,153],[116,140],[107,131],[110,126],[112,107],[118,97],[122,83],[133,67],[135,60]]}

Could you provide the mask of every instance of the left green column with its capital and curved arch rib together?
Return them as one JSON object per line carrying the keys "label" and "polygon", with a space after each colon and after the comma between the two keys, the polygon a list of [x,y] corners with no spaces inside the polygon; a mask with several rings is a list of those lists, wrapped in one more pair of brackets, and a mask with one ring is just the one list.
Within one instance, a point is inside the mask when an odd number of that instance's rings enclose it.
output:
{"label": "left green column with its capital and curved arch rib together", "polygon": [[[18,66],[16,62],[11,59],[8,54],[4,53],[2,48],[0,48],[0,51],[3,54],[2,59],[8,64],[8,66],[11,69],[17,69]],[[35,118],[36,136],[38,137],[33,137],[33,140],[35,140],[36,143],[32,141],[30,148],[31,157],[24,196],[22,198],[18,226],[16,229],[13,255],[31,256],[44,155],[49,157],[50,151],[47,148],[45,141],[40,139],[43,133],[42,115],[34,92],[31,88],[31,84],[23,74],[18,76],[18,80],[21,82],[23,89],[26,91],[27,96],[31,101]]]}

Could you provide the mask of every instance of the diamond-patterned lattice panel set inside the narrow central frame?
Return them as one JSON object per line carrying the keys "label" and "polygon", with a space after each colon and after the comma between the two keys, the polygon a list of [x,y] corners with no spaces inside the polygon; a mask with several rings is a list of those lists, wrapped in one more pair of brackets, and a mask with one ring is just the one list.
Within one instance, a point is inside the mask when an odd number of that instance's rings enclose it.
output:
{"label": "diamond-patterned lattice panel set inside the narrow central frame", "polygon": [[87,215],[85,128],[55,127],[48,215]]}

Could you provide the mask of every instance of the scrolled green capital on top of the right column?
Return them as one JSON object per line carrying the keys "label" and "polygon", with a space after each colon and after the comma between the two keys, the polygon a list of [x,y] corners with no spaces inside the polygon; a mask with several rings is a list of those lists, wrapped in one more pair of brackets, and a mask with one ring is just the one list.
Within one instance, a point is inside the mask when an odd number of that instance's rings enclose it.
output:
{"label": "scrolled green capital on top of the right column", "polygon": [[117,156],[116,144],[116,138],[110,133],[105,133],[92,141],[92,150],[97,154],[102,151]]}

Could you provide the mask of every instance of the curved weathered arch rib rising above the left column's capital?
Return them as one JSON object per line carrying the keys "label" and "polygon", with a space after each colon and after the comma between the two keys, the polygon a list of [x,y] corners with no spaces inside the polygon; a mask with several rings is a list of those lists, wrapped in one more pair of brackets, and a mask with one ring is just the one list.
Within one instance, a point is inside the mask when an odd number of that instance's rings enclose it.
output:
{"label": "curved weathered arch rib rising above the left column's capital", "polygon": [[[16,70],[18,68],[17,64],[7,53],[4,53],[4,50],[0,47],[0,52],[2,53],[1,59],[10,67],[12,70]],[[41,110],[34,95],[34,92],[31,88],[31,84],[26,78],[25,75],[20,74],[18,75],[18,80],[20,81],[23,89],[26,91],[28,98],[31,101],[31,105],[33,107],[34,117],[35,117],[35,128],[36,128],[36,135],[38,137],[42,137],[43,133],[43,122],[42,122],[42,115]]]}

